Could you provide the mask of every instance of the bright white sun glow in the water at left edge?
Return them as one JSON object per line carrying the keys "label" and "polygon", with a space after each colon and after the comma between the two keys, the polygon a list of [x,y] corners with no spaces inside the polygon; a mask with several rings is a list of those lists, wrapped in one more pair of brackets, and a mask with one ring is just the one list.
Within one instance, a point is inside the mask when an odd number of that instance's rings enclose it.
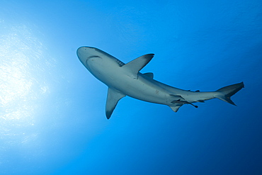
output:
{"label": "bright white sun glow in the water at left edge", "polygon": [[48,86],[38,70],[42,59],[42,44],[26,26],[7,28],[4,27],[5,35],[0,35],[2,139],[4,135],[24,135],[23,129],[35,124],[38,101],[48,92]]}

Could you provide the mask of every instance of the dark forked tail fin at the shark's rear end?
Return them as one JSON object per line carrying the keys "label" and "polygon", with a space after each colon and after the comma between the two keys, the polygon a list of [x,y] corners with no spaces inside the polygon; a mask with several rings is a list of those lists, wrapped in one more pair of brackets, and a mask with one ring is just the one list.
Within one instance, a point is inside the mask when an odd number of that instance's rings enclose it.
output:
{"label": "dark forked tail fin at the shark's rear end", "polygon": [[220,94],[217,94],[215,97],[219,98],[222,101],[226,101],[227,103],[230,103],[234,106],[237,106],[230,97],[236,94],[240,89],[244,88],[244,83],[241,82],[239,84],[232,84],[229,86],[225,86],[221,89],[218,89],[216,92],[220,92]]}

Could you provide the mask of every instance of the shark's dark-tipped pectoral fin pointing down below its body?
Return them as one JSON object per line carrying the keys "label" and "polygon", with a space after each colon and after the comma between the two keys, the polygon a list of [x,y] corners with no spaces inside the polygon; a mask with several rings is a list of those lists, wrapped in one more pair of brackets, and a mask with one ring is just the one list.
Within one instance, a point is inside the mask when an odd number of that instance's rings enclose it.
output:
{"label": "shark's dark-tipped pectoral fin pointing down below its body", "polygon": [[120,91],[108,88],[108,98],[106,99],[106,118],[110,118],[115,106],[118,104],[121,98],[125,97]]}

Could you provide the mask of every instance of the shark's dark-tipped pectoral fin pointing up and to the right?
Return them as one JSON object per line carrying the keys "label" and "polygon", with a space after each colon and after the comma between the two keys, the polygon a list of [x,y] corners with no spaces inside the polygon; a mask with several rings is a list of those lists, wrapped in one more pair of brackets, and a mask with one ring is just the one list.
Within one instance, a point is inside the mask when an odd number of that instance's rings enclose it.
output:
{"label": "shark's dark-tipped pectoral fin pointing up and to the right", "polygon": [[129,76],[133,79],[137,79],[138,72],[149,63],[152,58],[154,57],[154,54],[147,54],[142,55],[141,57],[136,58],[135,60],[132,60],[131,62],[128,62],[127,64],[123,65],[124,69],[127,69],[129,72]]}

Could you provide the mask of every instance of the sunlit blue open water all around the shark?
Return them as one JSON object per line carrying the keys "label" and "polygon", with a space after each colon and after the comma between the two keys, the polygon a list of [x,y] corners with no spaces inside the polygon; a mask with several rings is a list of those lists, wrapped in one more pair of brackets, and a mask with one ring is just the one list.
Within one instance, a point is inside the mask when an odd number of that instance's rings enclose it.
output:
{"label": "sunlit blue open water all around the shark", "polygon": [[[1,1],[0,174],[262,174],[262,1]],[[81,46],[192,91],[232,97],[174,113],[107,87]]]}

